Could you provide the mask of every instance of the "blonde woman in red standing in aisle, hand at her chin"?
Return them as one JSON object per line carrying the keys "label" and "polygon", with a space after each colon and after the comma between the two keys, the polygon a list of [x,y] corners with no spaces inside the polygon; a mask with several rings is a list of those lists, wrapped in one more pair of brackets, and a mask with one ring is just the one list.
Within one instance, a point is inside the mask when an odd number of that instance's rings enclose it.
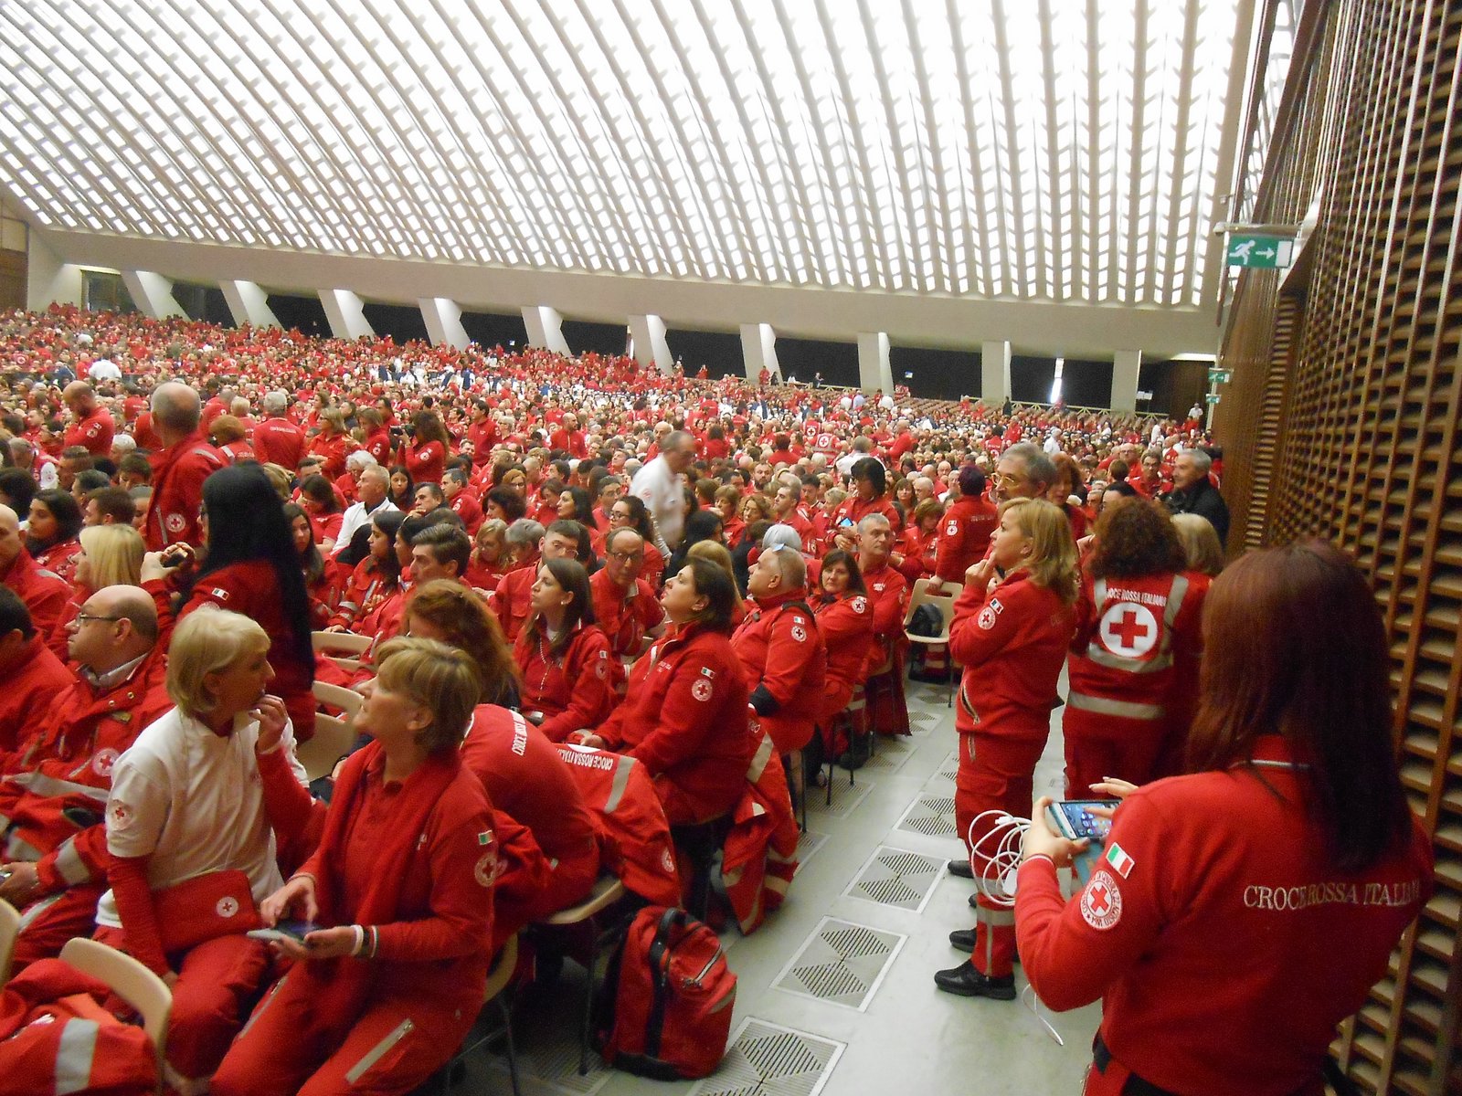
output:
{"label": "blonde woman in red standing in aisle, hand at her chin", "polygon": [[955,707],[955,823],[969,872],[984,880],[975,928],[949,937],[971,953],[969,962],[934,975],[950,994],[1015,1000],[1015,926],[1009,909],[988,897],[1000,880],[975,848],[991,827],[985,813],[1031,810],[1035,764],[1076,628],[1076,544],[1060,507],[1044,498],[1001,503],[990,555],[965,571],[949,627],[950,655],[965,668]]}

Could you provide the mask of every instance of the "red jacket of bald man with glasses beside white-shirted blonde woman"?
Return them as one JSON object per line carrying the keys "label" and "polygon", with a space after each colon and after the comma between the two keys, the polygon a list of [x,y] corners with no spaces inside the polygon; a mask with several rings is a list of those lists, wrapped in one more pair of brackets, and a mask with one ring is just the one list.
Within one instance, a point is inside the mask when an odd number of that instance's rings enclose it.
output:
{"label": "red jacket of bald man with glasses beside white-shirted blonde woman", "polygon": [[[107,875],[107,794],[111,767],[142,728],[173,707],[162,685],[165,647],[158,644],[124,680],[96,690],[73,678],[51,707],[32,716],[22,772],[0,780],[0,827],[7,855],[35,859],[41,891],[51,894]],[[67,811],[72,817],[67,817]],[[86,817],[94,821],[85,821]]]}

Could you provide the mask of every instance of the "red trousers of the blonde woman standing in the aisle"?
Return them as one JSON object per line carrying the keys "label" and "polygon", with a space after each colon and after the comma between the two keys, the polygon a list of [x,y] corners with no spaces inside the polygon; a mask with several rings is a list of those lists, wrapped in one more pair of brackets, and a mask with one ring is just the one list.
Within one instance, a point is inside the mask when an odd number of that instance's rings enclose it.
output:
{"label": "red trousers of the blonde woman standing in the aisle", "polygon": [[[955,777],[955,826],[965,849],[991,829],[982,820],[971,834],[971,823],[984,811],[1004,811],[1018,818],[1031,814],[1035,763],[1045,750],[1047,732],[1035,735],[984,734],[961,731],[959,773]],[[975,859],[975,872],[988,861]],[[987,886],[997,886],[991,881]],[[982,975],[1004,978],[1015,970],[1015,909],[985,899],[981,893],[975,910],[975,950],[969,962]]]}

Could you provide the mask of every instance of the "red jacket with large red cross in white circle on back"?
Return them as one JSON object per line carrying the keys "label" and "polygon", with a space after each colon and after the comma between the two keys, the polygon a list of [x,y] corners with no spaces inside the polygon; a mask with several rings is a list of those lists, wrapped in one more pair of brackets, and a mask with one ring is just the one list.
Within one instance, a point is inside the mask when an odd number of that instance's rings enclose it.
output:
{"label": "red jacket with large red cross in white circle on back", "polygon": [[1099,737],[1158,729],[1174,691],[1192,690],[1177,668],[1197,665],[1206,590],[1187,574],[1082,583],[1064,723]]}

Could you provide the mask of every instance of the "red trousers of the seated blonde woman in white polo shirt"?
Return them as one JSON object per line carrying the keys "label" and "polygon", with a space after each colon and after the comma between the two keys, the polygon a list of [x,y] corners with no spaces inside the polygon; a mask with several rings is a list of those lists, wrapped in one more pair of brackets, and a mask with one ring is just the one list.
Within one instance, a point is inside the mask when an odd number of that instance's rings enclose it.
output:
{"label": "red trousers of the seated blonde woman in white polo shirt", "polygon": [[[126,950],[120,928],[99,928],[96,940]],[[178,981],[162,1070],[170,1090],[193,1096],[209,1090],[209,1077],[249,1014],[269,970],[269,948],[244,935],[219,937],[170,959]]]}

